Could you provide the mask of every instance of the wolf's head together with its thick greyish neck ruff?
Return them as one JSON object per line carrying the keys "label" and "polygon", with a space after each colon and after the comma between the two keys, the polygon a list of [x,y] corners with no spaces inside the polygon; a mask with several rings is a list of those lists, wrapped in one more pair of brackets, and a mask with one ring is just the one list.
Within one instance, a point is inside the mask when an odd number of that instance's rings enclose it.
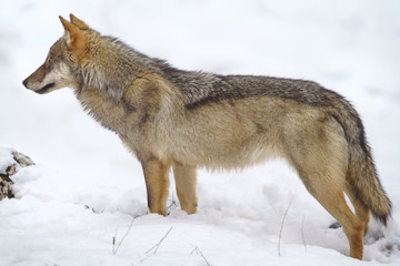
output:
{"label": "wolf's head together with its thick greyish neck ruff", "polygon": [[153,60],[113,37],[101,35],[70,14],[59,17],[64,34],[50,49],[46,62],[22,83],[43,94],[64,86],[81,92],[97,89],[119,101],[143,69],[159,71]]}

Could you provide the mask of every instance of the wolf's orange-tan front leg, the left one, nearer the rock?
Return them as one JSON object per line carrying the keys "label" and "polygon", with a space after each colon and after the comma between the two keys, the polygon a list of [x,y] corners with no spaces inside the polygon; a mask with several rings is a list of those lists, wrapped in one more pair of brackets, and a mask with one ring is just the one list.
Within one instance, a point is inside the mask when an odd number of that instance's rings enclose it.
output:
{"label": "wolf's orange-tan front leg, the left one, nearer the rock", "polygon": [[167,216],[167,200],[169,192],[168,172],[170,164],[158,160],[142,163],[146,187],[148,194],[148,206],[150,213]]}

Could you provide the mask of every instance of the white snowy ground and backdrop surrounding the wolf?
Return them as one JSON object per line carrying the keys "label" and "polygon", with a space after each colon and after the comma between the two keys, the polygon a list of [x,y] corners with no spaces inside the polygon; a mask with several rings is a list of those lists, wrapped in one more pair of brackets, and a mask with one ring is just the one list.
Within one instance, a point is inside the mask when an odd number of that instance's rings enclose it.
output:
{"label": "white snowy ground and backdrop surrounding the wolf", "polygon": [[[368,263],[347,257],[343,232],[280,161],[199,171],[191,216],[171,180],[171,214],[147,215],[141,166],[118,137],[69,89],[21,84],[70,12],[181,69],[309,79],[350,100],[394,205],[387,228],[370,223]],[[0,202],[0,265],[399,265],[399,12],[398,0],[0,0],[0,146],[37,163],[13,176],[17,198]],[[1,149],[0,166],[8,160]]]}

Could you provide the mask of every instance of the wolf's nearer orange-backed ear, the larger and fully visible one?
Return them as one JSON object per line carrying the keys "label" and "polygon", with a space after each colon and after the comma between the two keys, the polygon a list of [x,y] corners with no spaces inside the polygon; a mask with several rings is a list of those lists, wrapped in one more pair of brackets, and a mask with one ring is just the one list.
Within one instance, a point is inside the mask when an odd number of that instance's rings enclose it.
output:
{"label": "wolf's nearer orange-backed ear, the larger and fully visible one", "polygon": [[82,58],[88,47],[87,38],[77,25],[70,23],[61,16],[59,18],[66,30],[68,48],[78,57],[78,59]]}

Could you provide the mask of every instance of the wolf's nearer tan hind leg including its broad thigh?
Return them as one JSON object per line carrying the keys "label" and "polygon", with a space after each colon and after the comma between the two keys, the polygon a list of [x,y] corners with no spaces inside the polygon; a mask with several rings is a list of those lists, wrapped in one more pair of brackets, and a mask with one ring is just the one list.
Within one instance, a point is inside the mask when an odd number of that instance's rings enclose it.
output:
{"label": "wolf's nearer tan hind leg including its broad thigh", "polygon": [[[348,143],[334,120],[300,125],[286,139],[290,163],[307,190],[339,222],[349,239],[350,256],[362,259],[366,213],[356,204],[354,215],[344,200],[348,171]],[[352,194],[350,194],[352,198]],[[353,200],[353,198],[352,198]]]}

